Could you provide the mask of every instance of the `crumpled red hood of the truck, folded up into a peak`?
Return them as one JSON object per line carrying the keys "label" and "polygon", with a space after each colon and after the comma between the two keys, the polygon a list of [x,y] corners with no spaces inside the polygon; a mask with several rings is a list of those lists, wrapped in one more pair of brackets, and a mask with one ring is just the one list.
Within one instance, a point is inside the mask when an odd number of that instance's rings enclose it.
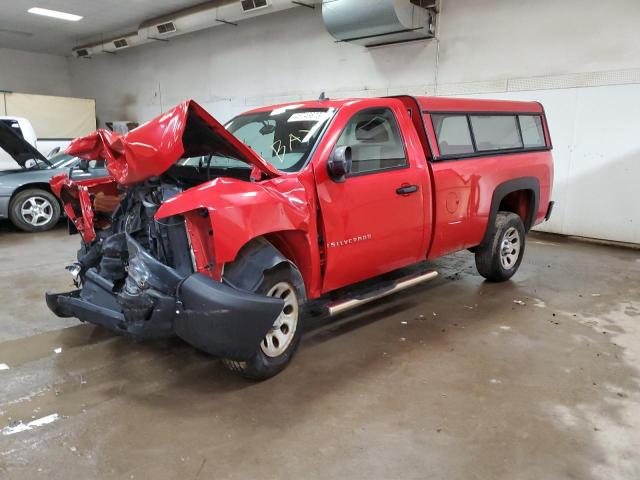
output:
{"label": "crumpled red hood of the truck, folded up into a peak", "polygon": [[229,133],[193,100],[187,100],[125,135],[100,129],[74,140],[69,155],[104,159],[122,185],[161,175],[181,158],[220,155],[245,162],[269,177],[279,171]]}

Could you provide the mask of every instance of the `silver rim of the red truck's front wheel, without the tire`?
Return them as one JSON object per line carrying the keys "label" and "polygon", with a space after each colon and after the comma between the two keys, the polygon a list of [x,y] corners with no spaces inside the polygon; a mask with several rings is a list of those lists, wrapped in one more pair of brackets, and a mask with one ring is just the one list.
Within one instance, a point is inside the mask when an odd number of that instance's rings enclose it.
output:
{"label": "silver rim of the red truck's front wheel, without the tire", "polygon": [[287,282],[275,284],[267,292],[267,296],[284,300],[284,306],[273,326],[260,342],[260,348],[266,356],[278,357],[287,350],[296,333],[298,296],[293,285]]}

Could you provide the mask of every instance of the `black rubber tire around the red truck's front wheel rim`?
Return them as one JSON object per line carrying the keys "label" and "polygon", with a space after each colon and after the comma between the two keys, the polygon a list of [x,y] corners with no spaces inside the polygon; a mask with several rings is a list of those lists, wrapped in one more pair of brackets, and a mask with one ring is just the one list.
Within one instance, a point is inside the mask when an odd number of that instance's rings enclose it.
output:
{"label": "black rubber tire around the red truck's front wheel rim", "polygon": [[[273,288],[280,284],[288,284],[297,298],[298,310],[297,321],[294,333],[284,351],[277,356],[267,355],[268,349],[265,340],[260,345],[256,345],[256,353],[250,360],[239,362],[235,360],[223,359],[222,363],[232,372],[238,373],[251,380],[266,380],[280,373],[289,364],[302,338],[302,324],[304,314],[304,304],[306,293],[300,271],[292,265],[281,265],[265,273],[262,283],[256,289],[256,293],[268,295]],[[285,309],[287,307],[285,306]],[[279,317],[280,318],[280,317]],[[271,331],[270,331],[271,333]],[[271,340],[273,342],[273,340]]]}

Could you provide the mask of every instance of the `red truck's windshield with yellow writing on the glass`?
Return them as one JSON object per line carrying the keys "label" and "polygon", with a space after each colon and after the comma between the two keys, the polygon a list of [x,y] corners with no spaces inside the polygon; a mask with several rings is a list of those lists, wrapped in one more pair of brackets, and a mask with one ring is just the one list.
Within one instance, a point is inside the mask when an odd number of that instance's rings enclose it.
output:
{"label": "red truck's windshield with yellow writing on the glass", "polygon": [[[266,112],[235,117],[225,128],[266,162],[283,172],[304,167],[318,141],[322,128],[334,109],[300,108],[291,105]],[[250,168],[244,162],[221,156],[183,159],[183,166],[210,168]]]}

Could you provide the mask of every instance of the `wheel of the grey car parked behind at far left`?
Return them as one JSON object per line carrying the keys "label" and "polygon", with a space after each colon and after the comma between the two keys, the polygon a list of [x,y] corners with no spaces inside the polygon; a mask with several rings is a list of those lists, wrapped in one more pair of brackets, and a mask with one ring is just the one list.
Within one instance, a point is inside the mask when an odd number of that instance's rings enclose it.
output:
{"label": "wheel of the grey car parked behind at far left", "polygon": [[[41,215],[25,214],[25,209],[38,205],[34,210]],[[9,205],[9,218],[20,230],[25,232],[44,232],[51,230],[60,220],[60,203],[46,190],[30,188],[18,192]]]}

